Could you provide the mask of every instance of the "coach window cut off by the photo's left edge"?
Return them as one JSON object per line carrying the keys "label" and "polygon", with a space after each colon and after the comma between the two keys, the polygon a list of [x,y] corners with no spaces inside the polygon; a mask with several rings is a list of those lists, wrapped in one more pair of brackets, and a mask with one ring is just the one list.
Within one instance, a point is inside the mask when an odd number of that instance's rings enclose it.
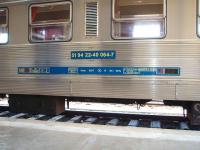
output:
{"label": "coach window cut off by the photo's left edge", "polygon": [[0,44],[8,42],[8,9],[0,8]]}

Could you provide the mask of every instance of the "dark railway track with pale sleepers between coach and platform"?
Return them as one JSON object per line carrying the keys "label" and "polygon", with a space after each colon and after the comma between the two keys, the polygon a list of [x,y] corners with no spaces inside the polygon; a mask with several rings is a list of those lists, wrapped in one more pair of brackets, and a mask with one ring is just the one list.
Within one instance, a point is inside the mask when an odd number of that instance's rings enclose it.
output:
{"label": "dark railway track with pale sleepers between coach and platform", "polygon": [[4,106],[0,107],[0,117],[9,119],[30,119],[107,126],[130,126],[200,131],[199,127],[189,126],[188,119],[184,116],[140,115],[75,110],[66,110],[64,113],[57,116],[43,114],[32,115],[27,113],[11,113],[9,112],[9,108]]}

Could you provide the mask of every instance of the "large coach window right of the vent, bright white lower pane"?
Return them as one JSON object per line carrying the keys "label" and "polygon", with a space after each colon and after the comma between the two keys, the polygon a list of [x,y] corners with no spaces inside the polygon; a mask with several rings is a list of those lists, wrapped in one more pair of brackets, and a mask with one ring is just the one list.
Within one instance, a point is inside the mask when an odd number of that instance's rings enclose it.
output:
{"label": "large coach window right of the vent, bright white lower pane", "polygon": [[113,0],[114,39],[163,38],[166,0]]}

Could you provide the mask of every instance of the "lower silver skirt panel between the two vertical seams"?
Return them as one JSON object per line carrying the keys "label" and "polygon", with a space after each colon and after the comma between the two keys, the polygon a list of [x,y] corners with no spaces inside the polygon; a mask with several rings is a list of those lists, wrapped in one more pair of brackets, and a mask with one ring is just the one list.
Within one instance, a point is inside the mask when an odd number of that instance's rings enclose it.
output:
{"label": "lower silver skirt panel between the two vertical seams", "polygon": [[128,99],[175,99],[174,85],[151,84],[148,81],[136,84],[131,80],[72,82],[72,96],[128,98]]}

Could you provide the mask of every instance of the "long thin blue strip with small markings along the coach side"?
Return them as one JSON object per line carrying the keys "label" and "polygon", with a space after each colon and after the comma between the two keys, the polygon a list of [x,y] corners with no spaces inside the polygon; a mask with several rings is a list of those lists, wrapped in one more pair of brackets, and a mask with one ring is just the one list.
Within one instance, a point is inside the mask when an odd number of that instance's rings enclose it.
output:
{"label": "long thin blue strip with small markings along the coach side", "polygon": [[18,74],[180,76],[179,67],[19,67]]}

